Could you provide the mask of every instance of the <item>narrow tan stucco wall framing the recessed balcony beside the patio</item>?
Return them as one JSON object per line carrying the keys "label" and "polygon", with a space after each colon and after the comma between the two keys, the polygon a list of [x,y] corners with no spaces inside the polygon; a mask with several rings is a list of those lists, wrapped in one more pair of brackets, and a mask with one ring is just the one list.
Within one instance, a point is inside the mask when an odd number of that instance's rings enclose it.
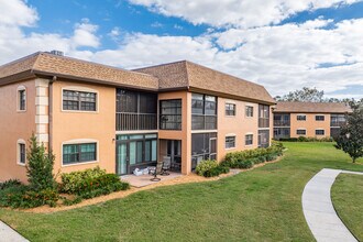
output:
{"label": "narrow tan stucco wall framing the recessed balcony beside the patio", "polygon": [[[191,94],[173,91],[158,95],[158,100],[167,99],[182,99],[182,130],[160,130],[158,139],[182,140],[182,173],[189,174],[191,169]],[[160,150],[163,148],[165,147],[160,145]],[[163,155],[162,152],[160,155]]]}

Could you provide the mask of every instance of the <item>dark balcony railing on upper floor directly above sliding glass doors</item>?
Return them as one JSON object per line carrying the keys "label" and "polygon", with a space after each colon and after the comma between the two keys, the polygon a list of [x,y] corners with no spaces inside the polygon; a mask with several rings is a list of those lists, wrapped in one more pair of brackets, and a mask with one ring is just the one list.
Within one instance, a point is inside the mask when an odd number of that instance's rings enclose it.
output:
{"label": "dark balcony railing on upper floor directly above sliding glass doors", "polygon": [[116,130],[157,130],[156,113],[116,113]]}

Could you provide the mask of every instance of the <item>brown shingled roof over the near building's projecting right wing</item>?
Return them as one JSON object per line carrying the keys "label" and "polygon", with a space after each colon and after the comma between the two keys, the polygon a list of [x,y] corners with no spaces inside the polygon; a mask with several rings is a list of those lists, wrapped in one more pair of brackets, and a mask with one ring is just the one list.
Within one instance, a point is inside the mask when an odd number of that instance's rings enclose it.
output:
{"label": "brown shingled roof over the near building's projecting right wing", "polygon": [[263,103],[275,103],[257,84],[187,61],[134,69],[160,78],[160,89],[188,88]]}

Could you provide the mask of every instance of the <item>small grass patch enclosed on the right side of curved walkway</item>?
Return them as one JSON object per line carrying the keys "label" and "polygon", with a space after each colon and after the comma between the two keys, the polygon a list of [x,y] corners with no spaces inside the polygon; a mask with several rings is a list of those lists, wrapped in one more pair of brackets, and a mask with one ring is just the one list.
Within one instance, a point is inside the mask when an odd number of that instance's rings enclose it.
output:
{"label": "small grass patch enclosed on the right side of curved walkway", "polygon": [[348,229],[363,241],[363,177],[341,174],[331,189],[334,208]]}

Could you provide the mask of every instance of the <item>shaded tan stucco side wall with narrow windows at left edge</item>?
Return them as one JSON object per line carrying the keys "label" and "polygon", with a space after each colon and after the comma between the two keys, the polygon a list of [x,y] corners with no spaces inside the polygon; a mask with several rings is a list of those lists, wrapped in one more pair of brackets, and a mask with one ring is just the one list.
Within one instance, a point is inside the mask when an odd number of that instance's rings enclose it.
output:
{"label": "shaded tan stucco side wall with narrow windows at left edge", "polygon": [[[26,111],[18,112],[18,87],[26,88]],[[35,80],[0,87],[0,180],[19,178],[26,182],[26,169],[16,164],[18,140],[29,145],[35,128]]]}

